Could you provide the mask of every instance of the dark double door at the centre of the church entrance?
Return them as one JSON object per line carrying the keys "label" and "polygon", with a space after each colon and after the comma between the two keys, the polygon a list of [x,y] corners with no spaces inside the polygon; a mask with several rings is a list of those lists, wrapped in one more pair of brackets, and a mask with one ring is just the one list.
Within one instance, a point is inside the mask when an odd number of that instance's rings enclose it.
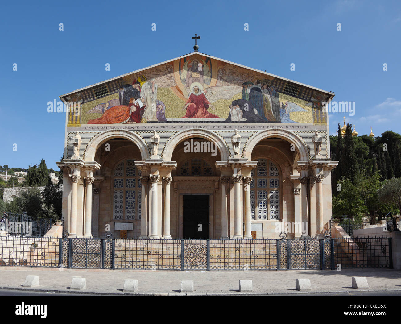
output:
{"label": "dark double door at the centre of the church entrance", "polygon": [[209,196],[183,196],[183,239],[209,239]]}

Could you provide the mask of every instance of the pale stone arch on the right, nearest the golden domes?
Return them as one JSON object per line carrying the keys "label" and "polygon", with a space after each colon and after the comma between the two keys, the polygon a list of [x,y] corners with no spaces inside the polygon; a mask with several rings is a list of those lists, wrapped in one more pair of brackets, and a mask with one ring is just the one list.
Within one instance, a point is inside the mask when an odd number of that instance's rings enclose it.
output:
{"label": "pale stone arch on the right, nearest the golden domes", "polygon": [[248,160],[251,160],[251,155],[253,148],[262,140],[265,140],[269,137],[277,137],[281,138],[283,140],[286,140],[287,142],[290,142],[295,145],[295,148],[298,151],[298,154],[300,155],[300,160],[301,161],[308,161],[309,160],[309,153],[308,153],[308,148],[306,148],[306,145],[302,141],[302,139],[292,133],[289,132],[288,130],[282,130],[279,128],[272,128],[269,130],[263,130],[259,133],[256,133],[254,136],[249,138],[247,144],[243,148],[243,157],[247,158]]}

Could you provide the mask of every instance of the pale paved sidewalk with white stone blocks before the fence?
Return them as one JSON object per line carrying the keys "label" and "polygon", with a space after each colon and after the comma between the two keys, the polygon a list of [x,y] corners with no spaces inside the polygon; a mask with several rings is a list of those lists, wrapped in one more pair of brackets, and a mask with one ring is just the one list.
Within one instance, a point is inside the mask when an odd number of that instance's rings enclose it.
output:
{"label": "pale paved sidewalk with white stone blocks before the fence", "polygon": [[[38,275],[40,286],[23,288],[27,275]],[[299,294],[295,280],[308,278],[316,292],[356,292],[351,277],[367,277],[370,291],[400,290],[401,271],[391,269],[296,270],[296,271],[150,271],[150,270],[93,270],[0,267],[0,289],[49,290],[71,292],[73,276],[86,278],[85,293],[123,294],[125,279],[138,279],[136,294],[180,295],[181,280],[194,280],[194,294],[240,294],[239,279],[253,281],[253,294]],[[76,292],[76,291],[75,291]],[[304,293],[304,292],[303,292]],[[187,294],[190,295],[190,294]]]}

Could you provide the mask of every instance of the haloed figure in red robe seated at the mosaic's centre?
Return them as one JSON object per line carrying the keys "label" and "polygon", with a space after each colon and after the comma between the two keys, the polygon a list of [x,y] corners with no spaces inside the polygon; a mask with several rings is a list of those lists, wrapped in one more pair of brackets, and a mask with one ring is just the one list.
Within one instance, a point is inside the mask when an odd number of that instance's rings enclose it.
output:
{"label": "haloed figure in red robe seated at the mosaic's centre", "polygon": [[181,118],[220,118],[219,116],[209,113],[207,109],[213,107],[207,97],[195,85],[194,90],[190,93],[188,100],[183,109],[186,109],[186,114]]}

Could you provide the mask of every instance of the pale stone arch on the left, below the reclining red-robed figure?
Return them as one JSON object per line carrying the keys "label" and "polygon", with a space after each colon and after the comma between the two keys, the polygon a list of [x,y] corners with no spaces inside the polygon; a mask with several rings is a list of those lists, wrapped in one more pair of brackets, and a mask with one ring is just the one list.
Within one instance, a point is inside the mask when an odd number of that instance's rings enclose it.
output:
{"label": "pale stone arch on the left, below the reclining red-robed figure", "polygon": [[142,137],[140,137],[138,134],[134,132],[117,129],[117,130],[107,130],[92,138],[86,147],[83,160],[94,161],[95,154],[99,146],[104,142],[111,140],[112,138],[123,138],[136,144],[136,146],[138,146],[141,152],[142,161],[146,158],[150,158],[148,145],[146,145],[146,142],[143,140]]}

